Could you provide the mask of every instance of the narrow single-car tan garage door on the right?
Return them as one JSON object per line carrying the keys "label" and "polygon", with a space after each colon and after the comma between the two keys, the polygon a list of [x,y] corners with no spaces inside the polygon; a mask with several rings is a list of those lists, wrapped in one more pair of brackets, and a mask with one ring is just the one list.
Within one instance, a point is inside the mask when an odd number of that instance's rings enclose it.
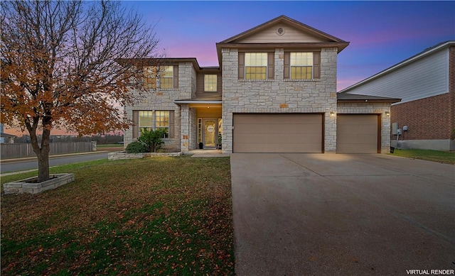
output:
{"label": "narrow single-car tan garage door on the right", "polygon": [[337,153],[378,153],[376,114],[338,114],[336,117]]}

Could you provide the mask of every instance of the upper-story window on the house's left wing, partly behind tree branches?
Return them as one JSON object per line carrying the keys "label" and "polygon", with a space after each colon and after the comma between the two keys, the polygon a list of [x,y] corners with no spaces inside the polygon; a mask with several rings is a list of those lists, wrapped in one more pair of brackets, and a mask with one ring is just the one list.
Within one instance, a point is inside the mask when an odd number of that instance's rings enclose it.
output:
{"label": "upper-story window on the house's left wing, partly behind tree branches", "polygon": [[[176,67],[176,68],[174,68]],[[173,89],[178,87],[177,66],[144,66],[144,88]]]}

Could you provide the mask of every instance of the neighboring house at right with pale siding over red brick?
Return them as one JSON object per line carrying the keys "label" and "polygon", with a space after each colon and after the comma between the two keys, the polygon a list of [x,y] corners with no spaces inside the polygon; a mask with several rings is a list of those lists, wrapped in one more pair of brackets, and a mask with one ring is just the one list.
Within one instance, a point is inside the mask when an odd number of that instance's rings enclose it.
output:
{"label": "neighboring house at right with pale siding over red brick", "polygon": [[348,94],[402,99],[390,110],[393,146],[455,150],[455,40],[434,45],[340,92]]}

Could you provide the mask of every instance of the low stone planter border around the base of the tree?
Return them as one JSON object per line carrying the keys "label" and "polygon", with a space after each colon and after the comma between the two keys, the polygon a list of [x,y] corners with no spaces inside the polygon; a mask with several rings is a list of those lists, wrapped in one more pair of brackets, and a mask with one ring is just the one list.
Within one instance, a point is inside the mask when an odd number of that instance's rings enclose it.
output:
{"label": "low stone planter border around the base of the tree", "polygon": [[18,180],[15,182],[9,182],[3,184],[3,189],[5,194],[38,194],[48,189],[55,189],[64,184],[74,181],[74,174],[72,173],[60,173],[55,175],[50,175],[50,180],[40,183],[31,183],[33,180],[36,180],[38,177],[30,177],[25,180]]}

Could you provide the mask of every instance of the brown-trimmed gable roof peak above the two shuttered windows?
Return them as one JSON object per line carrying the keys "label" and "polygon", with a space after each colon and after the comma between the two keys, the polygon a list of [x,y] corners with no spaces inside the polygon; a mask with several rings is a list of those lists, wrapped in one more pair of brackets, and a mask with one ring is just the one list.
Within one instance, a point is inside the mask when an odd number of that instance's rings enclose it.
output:
{"label": "brown-trimmed gable roof peak above the two shuttered windows", "polygon": [[[309,35],[309,37],[315,38],[315,40],[311,42],[267,42],[267,43],[252,43],[252,42],[245,42],[247,38],[251,38],[258,33],[267,31],[267,29],[272,28],[273,26],[290,26],[291,28],[295,29],[300,33],[305,33]],[[338,48],[338,53],[340,53],[344,48],[346,48],[349,43],[345,40],[341,40],[340,38],[336,38],[333,35],[329,35],[328,33],[324,33],[323,31],[319,31],[316,28],[308,26],[304,23],[296,21],[292,18],[287,16],[278,16],[270,21],[260,24],[254,28],[250,28],[247,31],[239,33],[238,35],[234,35],[228,39],[225,39],[219,43],[216,43],[217,53],[218,53],[218,61],[221,65],[221,48],[262,48],[264,45],[270,45],[274,48]]]}

